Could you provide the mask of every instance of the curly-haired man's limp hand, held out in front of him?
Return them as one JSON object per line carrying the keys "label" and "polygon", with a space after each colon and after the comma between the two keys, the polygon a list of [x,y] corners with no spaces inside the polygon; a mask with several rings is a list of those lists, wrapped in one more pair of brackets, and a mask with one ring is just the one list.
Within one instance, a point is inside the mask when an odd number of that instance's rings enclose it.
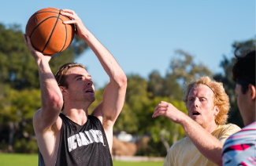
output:
{"label": "curly-haired man's limp hand, held out in front of him", "polygon": [[152,117],[158,117],[158,116],[165,116],[168,117],[169,120],[180,124],[180,122],[182,121],[182,119],[184,117],[187,117],[186,114],[184,114],[183,112],[181,112],[180,110],[176,109],[175,106],[173,106],[173,104],[171,103],[167,103],[164,101],[161,101],[158,106],[156,106],[154,108],[154,114],[152,115]]}

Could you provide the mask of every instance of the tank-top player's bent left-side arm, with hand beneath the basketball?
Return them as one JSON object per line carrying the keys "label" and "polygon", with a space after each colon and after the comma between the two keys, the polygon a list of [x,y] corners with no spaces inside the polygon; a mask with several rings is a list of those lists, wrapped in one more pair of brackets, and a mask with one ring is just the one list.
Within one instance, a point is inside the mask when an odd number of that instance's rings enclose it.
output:
{"label": "tank-top player's bent left-side arm, with hand beneath the basketball", "polygon": [[37,110],[34,119],[35,133],[43,133],[50,128],[58,119],[63,105],[61,90],[54,78],[49,66],[51,56],[44,56],[32,47],[30,38],[24,34],[24,42],[34,56],[39,69],[42,107]]}

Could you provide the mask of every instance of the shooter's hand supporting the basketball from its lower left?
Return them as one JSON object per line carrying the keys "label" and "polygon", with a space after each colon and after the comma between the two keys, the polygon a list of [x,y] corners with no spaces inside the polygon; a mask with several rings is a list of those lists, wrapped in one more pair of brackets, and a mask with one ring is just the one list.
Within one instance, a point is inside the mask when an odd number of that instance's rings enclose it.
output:
{"label": "shooter's hand supporting the basketball from its lower left", "polygon": [[50,61],[51,56],[47,56],[47,55],[44,56],[42,52],[37,51],[32,46],[30,38],[26,34],[23,34],[23,37],[24,37],[24,42],[25,42],[26,46],[28,47],[30,53],[32,54],[32,56],[35,58],[36,61],[43,60],[43,59],[48,62]]}

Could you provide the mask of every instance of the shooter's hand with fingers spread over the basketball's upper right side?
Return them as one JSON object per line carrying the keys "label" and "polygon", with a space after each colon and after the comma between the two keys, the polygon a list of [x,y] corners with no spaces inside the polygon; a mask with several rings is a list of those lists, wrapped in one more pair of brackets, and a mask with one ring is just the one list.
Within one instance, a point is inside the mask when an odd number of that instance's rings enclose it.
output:
{"label": "shooter's hand with fingers spread over the basketball's upper right side", "polygon": [[75,23],[76,24],[76,35],[80,38],[83,37],[83,32],[87,30],[87,28],[83,25],[82,20],[77,14],[69,9],[61,9],[61,15],[68,16],[71,20],[64,21],[63,23]]}

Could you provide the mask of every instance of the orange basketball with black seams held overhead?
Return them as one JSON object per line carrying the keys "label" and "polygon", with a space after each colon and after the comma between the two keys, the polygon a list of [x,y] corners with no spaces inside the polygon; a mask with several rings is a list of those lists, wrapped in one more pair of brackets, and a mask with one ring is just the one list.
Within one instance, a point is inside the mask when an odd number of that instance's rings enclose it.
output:
{"label": "orange basketball with black seams held overhead", "polygon": [[74,25],[62,23],[70,19],[60,12],[56,8],[40,9],[28,20],[26,35],[30,37],[33,47],[43,54],[64,51],[74,38]]}

